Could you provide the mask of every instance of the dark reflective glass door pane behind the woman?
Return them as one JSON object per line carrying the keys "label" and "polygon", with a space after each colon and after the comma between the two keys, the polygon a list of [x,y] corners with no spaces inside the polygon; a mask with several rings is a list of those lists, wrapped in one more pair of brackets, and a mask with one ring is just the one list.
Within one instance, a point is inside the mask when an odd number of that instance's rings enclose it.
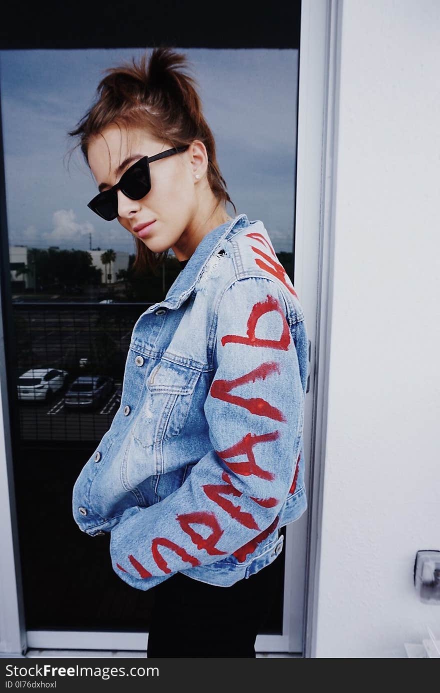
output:
{"label": "dark reflective glass door pane behind the woman", "polygon": [[[298,51],[177,50],[194,66],[237,213],[264,222],[293,279]],[[121,380],[133,325],[164,297],[180,266],[171,253],[158,276],[135,278],[133,237],[117,220],[105,222],[87,209],[96,195],[92,175],[78,150],[70,161],[65,157],[73,145],[67,130],[90,107],[102,71],[142,53],[0,51],[15,331],[8,367],[26,374],[19,385],[29,386],[41,380],[27,371],[51,369],[44,378],[50,389],[32,401],[20,398],[11,413],[19,431],[15,482],[26,627],[32,630],[148,629],[151,595],[115,578],[108,536],[79,532],[71,489],[124,405]],[[77,378],[98,374],[95,388],[110,377],[115,385],[100,406],[69,407],[68,391],[92,389],[92,382]],[[266,632],[280,633],[284,553],[273,565],[280,595]]]}

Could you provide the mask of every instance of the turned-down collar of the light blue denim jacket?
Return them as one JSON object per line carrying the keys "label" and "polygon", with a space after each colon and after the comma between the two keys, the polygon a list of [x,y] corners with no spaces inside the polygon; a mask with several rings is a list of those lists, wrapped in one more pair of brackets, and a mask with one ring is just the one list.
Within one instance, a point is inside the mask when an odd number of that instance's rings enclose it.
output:
{"label": "turned-down collar of the light blue denim jacket", "polygon": [[249,225],[249,220],[246,214],[238,214],[234,219],[224,222],[220,226],[203,236],[194,253],[189,258],[187,265],[174,281],[173,286],[169,289],[166,297],[160,303],[150,306],[147,312],[156,310],[158,306],[164,308],[179,308],[179,306],[187,299],[194,290],[194,286],[201,277],[203,269],[208,263],[208,260],[214,252],[219,249],[221,241],[228,236],[235,235],[239,229]]}

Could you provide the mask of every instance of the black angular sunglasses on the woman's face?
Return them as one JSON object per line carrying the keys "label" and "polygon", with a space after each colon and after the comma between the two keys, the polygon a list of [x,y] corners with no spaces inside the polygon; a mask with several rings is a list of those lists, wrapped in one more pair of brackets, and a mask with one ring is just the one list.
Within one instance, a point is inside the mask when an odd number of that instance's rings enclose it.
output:
{"label": "black angular sunglasses on the woman's face", "polygon": [[179,152],[185,152],[188,147],[189,145],[174,147],[173,149],[167,149],[166,152],[155,154],[153,157],[142,157],[142,159],[136,161],[133,166],[127,168],[116,185],[96,195],[96,198],[90,200],[87,207],[98,214],[98,216],[105,219],[105,221],[116,219],[118,216],[117,190],[123,192],[130,200],[142,200],[142,198],[151,191],[149,168],[151,161],[158,161],[158,159],[164,159],[164,157],[171,157]]}

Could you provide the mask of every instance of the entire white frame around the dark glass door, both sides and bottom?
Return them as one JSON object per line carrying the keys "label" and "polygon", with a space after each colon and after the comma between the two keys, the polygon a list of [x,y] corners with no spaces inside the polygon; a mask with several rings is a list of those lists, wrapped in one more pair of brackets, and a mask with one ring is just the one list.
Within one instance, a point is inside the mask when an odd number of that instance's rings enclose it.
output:
{"label": "entire white frame around the dark glass door, both sides and bottom", "polygon": [[[288,652],[312,658],[325,453],[330,336],[327,306],[332,283],[333,150],[341,12],[342,0],[301,3],[294,285],[305,311],[311,342],[310,389],[305,398],[304,419],[308,509],[286,528],[283,633],[258,635],[255,643],[259,652]],[[1,221],[6,225],[4,210]],[[3,245],[7,245],[7,240],[3,240]],[[318,373],[319,378],[315,377]],[[23,656],[28,647],[145,651],[147,633],[25,629],[2,321],[0,416],[0,656]]]}

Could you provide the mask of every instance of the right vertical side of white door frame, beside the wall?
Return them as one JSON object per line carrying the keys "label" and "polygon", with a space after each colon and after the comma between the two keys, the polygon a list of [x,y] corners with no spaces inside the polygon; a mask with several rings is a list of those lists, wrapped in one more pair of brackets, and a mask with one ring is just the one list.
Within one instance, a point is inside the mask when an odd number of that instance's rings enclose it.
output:
{"label": "right vertical side of white door frame, beside the wall", "polygon": [[[331,306],[334,255],[334,186],[339,108],[341,19],[343,0],[303,0],[301,12],[300,96],[298,116],[298,280],[305,288],[305,315],[312,328],[310,378],[313,395],[308,406],[310,426],[310,479],[307,583],[303,657],[315,658],[317,595],[321,554],[321,518],[328,402]],[[316,240],[319,245],[316,246]],[[307,279],[307,276],[309,279]],[[311,285],[311,280],[314,286]],[[311,317],[316,316],[312,325]],[[307,407],[307,398],[306,398]],[[305,419],[306,421],[306,419]]]}

